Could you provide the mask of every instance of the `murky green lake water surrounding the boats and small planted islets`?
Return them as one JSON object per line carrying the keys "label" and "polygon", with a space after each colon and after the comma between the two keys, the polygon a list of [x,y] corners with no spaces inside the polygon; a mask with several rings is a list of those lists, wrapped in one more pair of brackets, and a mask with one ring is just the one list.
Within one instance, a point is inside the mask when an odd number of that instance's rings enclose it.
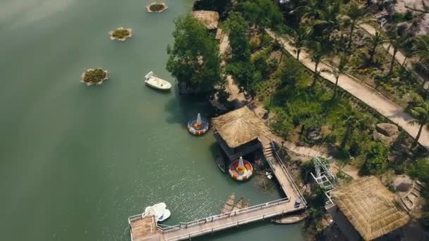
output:
{"label": "murky green lake water surrounding the boats and small planted islets", "polygon": [[[219,171],[211,134],[186,122],[204,104],[145,87],[165,63],[174,18],[191,0],[170,0],[162,14],[146,1],[0,0],[0,240],[130,240],[127,218],[165,202],[171,218],[218,214],[231,192],[259,204],[279,199],[252,180]],[[108,32],[135,35],[111,42]],[[86,87],[86,68],[109,70]],[[176,87],[176,85],[174,85]],[[303,240],[301,225],[245,225],[196,240]]]}

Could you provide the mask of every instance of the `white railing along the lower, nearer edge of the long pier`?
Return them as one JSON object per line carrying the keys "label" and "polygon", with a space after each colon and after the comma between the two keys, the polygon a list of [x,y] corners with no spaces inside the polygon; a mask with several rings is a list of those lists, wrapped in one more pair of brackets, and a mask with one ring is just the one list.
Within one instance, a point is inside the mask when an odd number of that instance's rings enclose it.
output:
{"label": "white railing along the lower, nearer edge of the long pier", "polygon": [[224,230],[226,228],[231,228],[231,227],[243,225],[243,224],[246,224],[246,223],[251,223],[251,222],[255,222],[255,221],[264,220],[265,218],[271,218],[273,216],[278,216],[278,215],[281,215],[281,214],[288,214],[288,213],[290,213],[292,211],[296,211],[296,210],[302,209],[303,207],[305,207],[305,205],[301,205],[301,206],[298,206],[298,207],[293,208],[293,209],[282,209],[282,210],[277,210],[277,211],[271,211],[271,212],[266,213],[266,214],[260,214],[258,216],[253,216],[253,217],[249,217],[249,218],[243,218],[240,221],[232,221],[232,222],[229,222],[229,223],[222,223],[222,224],[219,224],[219,225],[214,226],[214,227],[205,228],[205,229],[202,229],[202,230],[196,230],[196,231],[193,231],[191,233],[186,233],[184,235],[177,235],[177,236],[174,236],[174,237],[169,237],[169,238],[164,239],[164,240],[165,241],[176,241],[176,240],[191,239],[191,237],[197,237],[197,236],[200,236],[200,235],[205,235],[207,233],[214,233],[216,231]]}

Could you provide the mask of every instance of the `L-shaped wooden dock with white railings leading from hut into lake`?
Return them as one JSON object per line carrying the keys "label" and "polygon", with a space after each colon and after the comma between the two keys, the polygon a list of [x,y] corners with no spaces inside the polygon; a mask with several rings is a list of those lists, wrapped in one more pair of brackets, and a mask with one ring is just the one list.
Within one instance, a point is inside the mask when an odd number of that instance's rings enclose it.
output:
{"label": "L-shaped wooden dock with white railings leading from hut into lake", "polygon": [[[264,220],[265,218],[305,209],[306,200],[298,190],[298,187],[296,187],[294,180],[291,178],[291,175],[289,175],[289,172],[275,151],[274,142],[265,139],[260,140],[260,142],[262,143],[265,159],[267,159],[267,162],[270,164],[274,175],[286,194],[286,198],[250,206],[225,214],[202,218],[188,223],[180,223],[179,225],[158,225],[156,237],[154,237],[152,233],[150,233],[150,237],[139,236],[139,233],[136,232],[136,230],[140,230],[139,225],[135,225],[133,221],[138,220],[139,216],[131,216],[128,218],[128,223],[130,223],[131,226],[131,241],[188,240],[191,239],[191,237],[198,237],[207,233],[214,233],[219,230],[225,230],[246,223]],[[301,203],[296,205],[296,199],[301,199]]]}

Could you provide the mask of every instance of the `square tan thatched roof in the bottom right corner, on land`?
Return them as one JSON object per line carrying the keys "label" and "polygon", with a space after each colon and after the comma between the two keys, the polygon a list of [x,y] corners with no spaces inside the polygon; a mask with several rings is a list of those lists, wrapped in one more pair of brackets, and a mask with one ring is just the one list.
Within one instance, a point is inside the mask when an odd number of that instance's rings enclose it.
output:
{"label": "square tan thatched roof in the bottom right corner, on land", "polygon": [[339,186],[332,197],[365,240],[390,233],[410,219],[396,202],[395,195],[374,176]]}

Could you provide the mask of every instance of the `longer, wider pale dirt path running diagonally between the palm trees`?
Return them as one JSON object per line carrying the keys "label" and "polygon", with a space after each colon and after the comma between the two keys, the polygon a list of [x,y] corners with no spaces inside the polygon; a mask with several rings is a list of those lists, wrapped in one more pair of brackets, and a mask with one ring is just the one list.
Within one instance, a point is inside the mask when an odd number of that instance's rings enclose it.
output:
{"label": "longer, wider pale dirt path running diagonally between the palm trees", "polygon": [[[274,38],[273,32],[267,30],[267,33]],[[289,44],[289,41],[286,40],[286,37],[281,37],[280,40],[284,44],[284,49],[288,51],[292,56],[296,56],[295,48]],[[311,71],[314,70],[315,63],[311,61],[306,51],[301,51],[299,61]],[[319,66],[320,69],[331,68],[325,63],[320,63]],[[335,82],[334,75],[331,75],[329,73],[322,73],[321,75],[323,78],[329,80],[330,82]],[[399,107],[397,104],[394,104],[392,101],[377,92],[375,89],[363,84],[361,80],[358,80],[351,75],[341,75],[339,77],[338,86],[346,90],[346,92],[352,94],[354,97],[360,99],[365,104],[368,104],[368,106],[375,109],[375,111],[380,113],[382,116],[385,116],[393,123],[399,125],[406,132],[408,132],[411,137],[416,137],[418,132],[418,125],[411,125],[409,123],[409,121],[413,120],[413,118],[408,113],[402,111],[401,107]],[[418,142],[426,149],[429,149],[429,131],[426,128],[423,128],[420,140]]]}

